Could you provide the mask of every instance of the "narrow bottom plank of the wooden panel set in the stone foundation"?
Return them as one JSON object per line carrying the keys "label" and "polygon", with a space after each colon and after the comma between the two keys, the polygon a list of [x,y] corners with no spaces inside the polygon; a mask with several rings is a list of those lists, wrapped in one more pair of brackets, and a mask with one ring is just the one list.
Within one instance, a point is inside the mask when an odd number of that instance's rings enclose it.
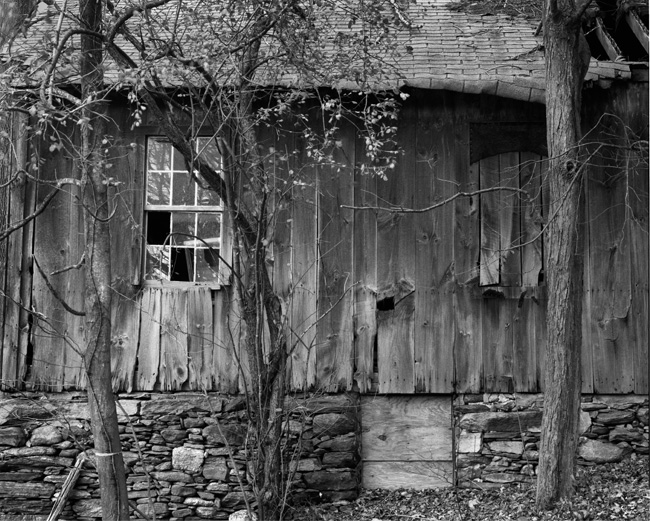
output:
{"label": "narrow bottom plank of the wooden panel set in the stone foundation", "polygon": [[429,490],[453,485],[451,461],[369,461],[363,464],[361,486],[366,489]]}

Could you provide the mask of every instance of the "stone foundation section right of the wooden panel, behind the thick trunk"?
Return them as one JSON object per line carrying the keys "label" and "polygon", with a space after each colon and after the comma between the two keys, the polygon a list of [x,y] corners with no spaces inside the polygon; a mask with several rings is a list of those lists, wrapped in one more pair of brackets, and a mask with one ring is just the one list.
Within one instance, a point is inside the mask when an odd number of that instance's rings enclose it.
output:
{"label": "stone foundation section right of the wooden panel, behind the thick trunk", "polygon": [[[454,403],[456,468],[461,486],[532,483],[542,423],[541,394],[460,395]],[[578,463],[648,454],[647,396],[582,398]]]}

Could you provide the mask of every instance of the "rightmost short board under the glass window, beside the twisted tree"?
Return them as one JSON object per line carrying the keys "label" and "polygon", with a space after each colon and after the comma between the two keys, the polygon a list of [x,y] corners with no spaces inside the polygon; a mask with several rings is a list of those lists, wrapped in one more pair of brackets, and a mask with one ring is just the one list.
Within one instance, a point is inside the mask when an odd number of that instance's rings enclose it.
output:
{"label": "rightmost short board under the glass window, beside the twisted tree", "polygon": [[[215,390],[235,394],[239,391],[239,363],[235,342],[240,339],[240,321],[232,305],[232,288],[221,289],[214,295],[213,353],[211,371]],[[238,347],[237,347],[238,349]]]}

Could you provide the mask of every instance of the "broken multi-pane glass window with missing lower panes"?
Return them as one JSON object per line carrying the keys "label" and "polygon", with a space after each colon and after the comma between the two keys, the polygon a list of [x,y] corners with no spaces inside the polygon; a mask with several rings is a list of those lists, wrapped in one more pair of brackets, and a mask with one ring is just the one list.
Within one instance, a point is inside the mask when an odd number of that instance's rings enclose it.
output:
{"label": "broken multi-pane glass window with missing lower panes", "polygon": [[[196,153],[217,170],[214,140],[198,138]],[[219,285],[223,207],[202,188],[183,156],[163,138],[147,140],[145,280]]]}

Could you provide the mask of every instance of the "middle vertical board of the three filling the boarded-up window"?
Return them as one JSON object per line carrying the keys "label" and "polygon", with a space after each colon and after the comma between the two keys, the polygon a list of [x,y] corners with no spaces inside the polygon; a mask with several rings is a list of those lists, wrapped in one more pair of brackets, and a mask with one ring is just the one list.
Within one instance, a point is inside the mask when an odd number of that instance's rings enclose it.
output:
{"label": "middle vertical board of the three filling the boarded-up window", "polygon": [[[520,157],[516,152],[499,156],[500,186],[519,188]],[[521,286],[521,209],[520,194],[499,192],[499,240],[502,286]]]}

